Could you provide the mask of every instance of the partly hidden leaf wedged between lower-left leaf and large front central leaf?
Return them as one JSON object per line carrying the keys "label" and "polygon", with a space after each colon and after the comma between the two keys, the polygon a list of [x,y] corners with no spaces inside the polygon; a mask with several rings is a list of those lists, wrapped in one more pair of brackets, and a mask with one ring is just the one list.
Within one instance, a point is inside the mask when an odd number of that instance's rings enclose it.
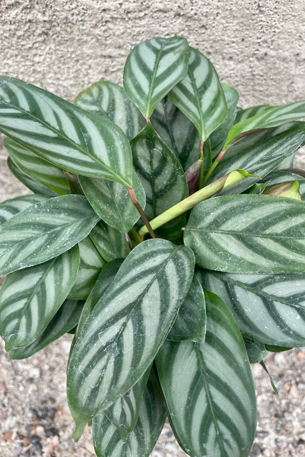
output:
{"label": "partly hidden leaf wedged between lower-left leaf and large front central leaf", "polygon": [[78,247],[80,252],[79,269],[68,298],[86,300],[106,262],[89,237],[80,241]]}

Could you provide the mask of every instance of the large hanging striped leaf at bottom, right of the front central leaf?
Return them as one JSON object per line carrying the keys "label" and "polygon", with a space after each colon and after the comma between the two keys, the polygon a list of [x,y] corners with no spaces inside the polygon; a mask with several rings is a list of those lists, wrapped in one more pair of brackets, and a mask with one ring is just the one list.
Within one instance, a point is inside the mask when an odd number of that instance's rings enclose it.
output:
{"label": "large hanging striped leaf at bottom, right of the front central leaf", "polygon": [[248,457],[256,429],[250,364],[227,306],[205,292],[204,344],[166,341],[156,357],[169,420],[195,457]]}

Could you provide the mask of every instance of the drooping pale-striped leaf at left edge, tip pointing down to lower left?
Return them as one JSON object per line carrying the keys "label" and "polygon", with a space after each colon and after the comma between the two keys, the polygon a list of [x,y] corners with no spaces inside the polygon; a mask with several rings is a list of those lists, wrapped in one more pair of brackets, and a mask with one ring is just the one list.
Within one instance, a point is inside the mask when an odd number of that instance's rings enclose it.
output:
{"label": "drooping pale-striped leaf at left edge, tip pointing down to lower left", "polygon": [[7,351],[38,338],[67,298],[78,266],[75,246],[48,262],[6,277],[0,289],[0,333]]}

